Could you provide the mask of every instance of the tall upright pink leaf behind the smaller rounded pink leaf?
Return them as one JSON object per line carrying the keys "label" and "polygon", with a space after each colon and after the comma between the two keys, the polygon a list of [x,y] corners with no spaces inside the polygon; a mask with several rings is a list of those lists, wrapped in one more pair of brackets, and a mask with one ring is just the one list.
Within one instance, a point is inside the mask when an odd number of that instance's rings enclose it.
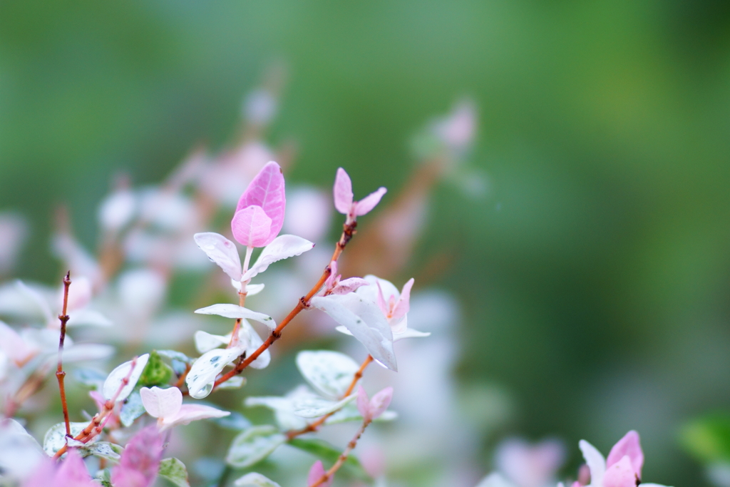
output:
{"label": "tall upright pink leaf behind the smaller rounded pink leaf", "polygon": [[255,247],[264,247],[276,238],[284,224],[286,195],[284,192],[284,175],[279,164],[271,161],[261,168],[261,171],[258,172],[258,175],[253,178],[246,191],[241,195],[241,199],[238,200],[236,212],[238,213],[251,205],[261,207],[266,216],[271,218],[269,234],[261,245],[255,245]]}

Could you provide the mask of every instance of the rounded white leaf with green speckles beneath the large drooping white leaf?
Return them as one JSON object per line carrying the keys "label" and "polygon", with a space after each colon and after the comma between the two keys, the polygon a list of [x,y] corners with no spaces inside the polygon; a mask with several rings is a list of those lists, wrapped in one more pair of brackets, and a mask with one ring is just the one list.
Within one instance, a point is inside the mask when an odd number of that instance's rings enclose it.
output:
{"label": "rounded white leaf with green speckles beneath the large drooping white leaf", "polygon": [[329,399],[344,396],[360,368],[344,353],[330,350],[301,351],[296,356],[296,367],[315,391]]}

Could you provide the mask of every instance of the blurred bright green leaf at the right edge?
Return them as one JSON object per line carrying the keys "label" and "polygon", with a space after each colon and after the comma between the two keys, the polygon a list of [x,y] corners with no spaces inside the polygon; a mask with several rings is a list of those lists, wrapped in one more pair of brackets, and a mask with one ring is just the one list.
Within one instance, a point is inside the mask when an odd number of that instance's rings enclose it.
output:
{"label": "blurred bright green leaf at the right edge", "polygon": [[730,415],[716,413],[685,424],[680,442],[700,461],[730,461]]}

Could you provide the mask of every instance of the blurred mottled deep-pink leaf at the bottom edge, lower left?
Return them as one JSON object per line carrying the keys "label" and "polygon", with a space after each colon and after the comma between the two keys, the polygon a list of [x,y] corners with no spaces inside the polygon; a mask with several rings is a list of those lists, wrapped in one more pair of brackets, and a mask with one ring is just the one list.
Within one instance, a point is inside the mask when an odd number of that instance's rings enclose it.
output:
{"label": "blurred mottled deep-pink leaf at the bottom edge, lower left", "polygon": [[162,457],[162,437],[157,426],[147,426],[131,437],[119,464],[112,469],[118,487],[149,487],[157,478]]}

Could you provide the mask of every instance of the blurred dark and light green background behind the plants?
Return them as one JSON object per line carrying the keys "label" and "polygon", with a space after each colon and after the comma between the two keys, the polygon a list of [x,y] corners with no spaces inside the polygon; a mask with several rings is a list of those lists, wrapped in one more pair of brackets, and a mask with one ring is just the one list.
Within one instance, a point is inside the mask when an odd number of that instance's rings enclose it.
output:
{"label": "blurred dark and light green background behind the plants", "polygon": [[635,428],[645,478],[700,482],[677,429],[730,405],[730,3],[5,0],[18,275],[58,276],[58,202],[93,248],[115,172],[155,183],[228,142],[272,60],[289,82],[269,141],[296,141],[291,177],[317,185],[345,166],[396,191],[410,137],[472,96],[489,192],[440,185],[414,264],[458,255],[439,283],[464,304],[458,380],[507,388],[505,431],[558,434],[574,464],[578,439],[607,452]]}

